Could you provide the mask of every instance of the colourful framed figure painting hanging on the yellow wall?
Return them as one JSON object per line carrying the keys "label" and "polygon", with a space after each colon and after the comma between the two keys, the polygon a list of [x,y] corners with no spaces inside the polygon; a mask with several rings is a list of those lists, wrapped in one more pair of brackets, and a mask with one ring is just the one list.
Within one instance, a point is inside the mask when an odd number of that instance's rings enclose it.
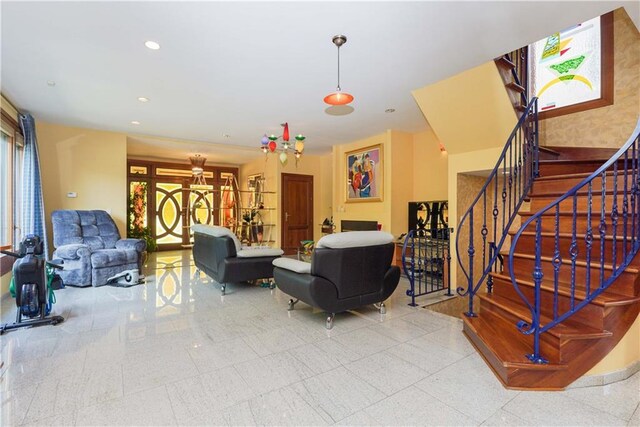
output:
{"label": "colourful framed figure painting hanging on the yellow wall", "polygon": [[381,202],[384,187],[382,144],[345,153],[346,202]]}

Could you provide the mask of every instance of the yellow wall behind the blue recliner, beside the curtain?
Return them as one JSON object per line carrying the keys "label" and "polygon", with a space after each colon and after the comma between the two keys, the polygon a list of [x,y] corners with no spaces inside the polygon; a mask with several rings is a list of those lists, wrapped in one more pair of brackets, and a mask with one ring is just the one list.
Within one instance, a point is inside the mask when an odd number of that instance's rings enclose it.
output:
{"label": "yellow wall behind the blue recliner, beside the curtain", "polygon": [[[36,135],[42,171],[45,216],[53,250],[51,212],[103,209],[126,235],[126,135],[40,122]],[[68,198],[68,192],[78,197]]]}

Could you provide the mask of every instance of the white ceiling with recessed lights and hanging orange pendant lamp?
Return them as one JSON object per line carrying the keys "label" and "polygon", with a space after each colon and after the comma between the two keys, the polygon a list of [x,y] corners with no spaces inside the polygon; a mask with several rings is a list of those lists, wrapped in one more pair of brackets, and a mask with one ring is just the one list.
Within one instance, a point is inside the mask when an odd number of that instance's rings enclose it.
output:
{"label": "white ceiling with recessed lights and hanging orange pendant lamp", "polygon": [[[307,136],[305,152],[325,153],[424,130],[411,90],[621,5],[639,25],[639,4],[2,1],[1,89],[36,120],[125,132],[138,157],[242,163],[284,121]],[[342,116],[322,102],[336,86],[335,34],[348,37],[341,85],[355,96]]]}

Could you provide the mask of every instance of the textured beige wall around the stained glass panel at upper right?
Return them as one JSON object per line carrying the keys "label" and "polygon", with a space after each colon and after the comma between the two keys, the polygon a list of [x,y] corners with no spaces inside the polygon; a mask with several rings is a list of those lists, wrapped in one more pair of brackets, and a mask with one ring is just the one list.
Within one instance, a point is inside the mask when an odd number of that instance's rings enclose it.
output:
{"label": "textured beige wall around the stained glass panel at upper right", "polygon": [[640,34],[620,8],[614,11],[613,105],[540,121],[548,146],[620,148],[640,118]]}

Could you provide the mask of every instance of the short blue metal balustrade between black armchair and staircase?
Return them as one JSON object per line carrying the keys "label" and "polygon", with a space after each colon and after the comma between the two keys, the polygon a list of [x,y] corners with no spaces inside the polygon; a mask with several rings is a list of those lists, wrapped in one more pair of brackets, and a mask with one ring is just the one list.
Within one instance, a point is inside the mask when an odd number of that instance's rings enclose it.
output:
{"label": "short blue metal balustrade between black armchair and staircase", "polygon": [[446,290],[451,293],[449,238],[453,228],[411,230],[402,247],[402,269],[409,279],[409,305],[416,297]]}

